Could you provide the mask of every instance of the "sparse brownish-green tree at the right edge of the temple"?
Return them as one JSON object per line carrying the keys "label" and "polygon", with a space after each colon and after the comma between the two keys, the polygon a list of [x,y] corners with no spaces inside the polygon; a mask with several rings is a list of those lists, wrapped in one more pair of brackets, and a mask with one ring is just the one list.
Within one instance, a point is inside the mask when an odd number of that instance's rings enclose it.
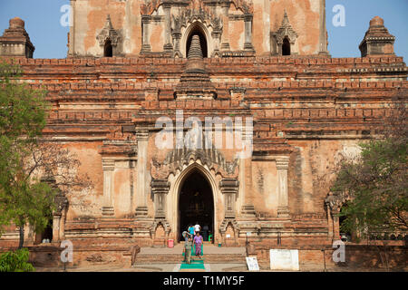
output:
{"label": "sparse brownish-green tree at the right edge of the temple", "polygon": [[344,160],[334,191],[348,197],[342,230],[365,238],[408,230],[407,121],[404,98],[385,120],[384,139],[360,144],[361,154]]}

